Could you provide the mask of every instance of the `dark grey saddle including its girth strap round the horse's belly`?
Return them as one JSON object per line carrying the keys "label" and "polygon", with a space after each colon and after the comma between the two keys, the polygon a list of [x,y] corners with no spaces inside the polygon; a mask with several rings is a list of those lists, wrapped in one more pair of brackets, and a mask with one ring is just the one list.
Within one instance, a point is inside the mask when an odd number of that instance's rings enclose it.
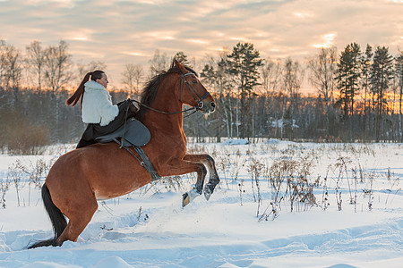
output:
{"label": "dark grey saddle including its girth strap round the horse's belly", "polygon": [[[107,135],[99,136],[95,140],[99,143],[108,143],[115,141],[120,145],[120,148],[124,147],[131,155],[133,155],[151,175],[151,180],[159,180],[161,177],[155,171],[154,166],[150,162],[149,157],[144,153],[141,147],[149,143],[151,138],[150,130],[144,126],[141,121],[129,118],[124,122],[124,125],[120,126],[117,130]],[[133,147],[137,154],[134,155],[130,150]]]}

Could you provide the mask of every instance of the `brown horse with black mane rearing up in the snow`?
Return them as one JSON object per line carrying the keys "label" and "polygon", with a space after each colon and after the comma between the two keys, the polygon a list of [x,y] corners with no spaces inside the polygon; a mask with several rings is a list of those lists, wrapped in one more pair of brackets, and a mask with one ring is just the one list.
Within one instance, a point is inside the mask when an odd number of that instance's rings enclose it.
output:
{"label": "brown horse with black mane rearing up in the snow", "polygon": [[[183,206],[201,195],[209,199],[219,183],[210,155],[187,155],[183,130],[183,105],[211,113],[215,101],[197,75],[182,63],[149,81],[141,95],[139,119],[151,133],[142,147],[159,176],[197,172],[193,189],[184,194]],[[207,168],[207,169],[206,169]],[[204,178],[210,179],[203,188]],[[61,246],[76,241],[98,208],[97,200],[123,196],[150,183],[150,173],[133,155],[116,143],[82,147],[60,156],[47,174],[42,198],[53,224],[55,238],[29,248]],[[68,223],[65,217],[69,219]]]}

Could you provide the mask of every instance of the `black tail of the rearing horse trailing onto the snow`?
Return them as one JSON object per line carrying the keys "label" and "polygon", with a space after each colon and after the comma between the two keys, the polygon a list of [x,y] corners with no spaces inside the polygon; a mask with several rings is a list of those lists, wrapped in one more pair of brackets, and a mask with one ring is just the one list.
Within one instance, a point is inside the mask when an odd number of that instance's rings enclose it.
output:
{"label": "black tail of the rearing horse trailing onto the snow", "polygon": [[45,205],[45,208],[47,210],[47,214],[49,215],[50,222],[52,222],[53,230],[55,231],[55,238],[39,241],[28,248],[59,246],[57,245],[56,239],[62,234],[65,227],[67,226],[64,214],[62,214],[60,209],[58,209],[57,206],[53,203],[46,183],[42,187],[42,199],[43,204]]}

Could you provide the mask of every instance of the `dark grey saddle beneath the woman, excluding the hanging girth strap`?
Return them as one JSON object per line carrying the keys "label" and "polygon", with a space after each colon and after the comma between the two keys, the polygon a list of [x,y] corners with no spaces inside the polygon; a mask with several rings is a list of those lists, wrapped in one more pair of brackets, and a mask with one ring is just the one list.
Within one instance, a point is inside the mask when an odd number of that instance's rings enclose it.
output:
{"label": "dark grey saddle beneath the woman, excluding the hanging girth strap", "polygon": [[143,147],[149,143],[151,135],[150,130],[144,126],[141,121],[130,118],[126,121],[126,125],[119,127],[116,131],[107,135],[95,138],[100,143],[111,142],[116,138],[124,137],[123,146]]}

